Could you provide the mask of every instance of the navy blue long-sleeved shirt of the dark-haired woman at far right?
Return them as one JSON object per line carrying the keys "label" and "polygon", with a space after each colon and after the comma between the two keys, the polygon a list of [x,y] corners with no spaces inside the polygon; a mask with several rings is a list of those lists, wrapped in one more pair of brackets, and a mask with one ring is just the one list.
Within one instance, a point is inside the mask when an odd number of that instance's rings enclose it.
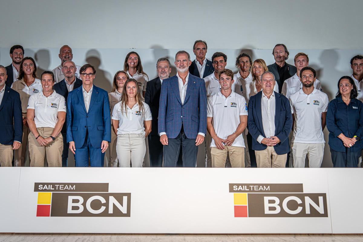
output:
{"label": "navy blue long-sleeved shirt of the dark-haired woman at far right", "polygon": [[359,152],[363,147],[363,103],[351,99],[347,105],[342,97],[330,101],[326,114],[326,127],[329,130],[329,146],[334,151],[345,152],[343,141],[337,136],[344,134],[348,138],[358,136],[360,139],[350,148],[350,152]]}

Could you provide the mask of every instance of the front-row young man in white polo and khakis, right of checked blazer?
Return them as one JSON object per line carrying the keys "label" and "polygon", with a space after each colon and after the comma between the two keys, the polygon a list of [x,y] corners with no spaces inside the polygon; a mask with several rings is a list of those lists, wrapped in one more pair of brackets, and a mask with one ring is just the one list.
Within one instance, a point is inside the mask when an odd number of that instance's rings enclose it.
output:
{"label": "front-row young man in white polo and khakis, right of checked blazer", "polygon": [[244,97],[232,91],[233,72],[219,73],[221,90],[208,98],[207,130],[212,136],[212,167],[225,167],[227,153],[232,167],[245,167],[245,143],[242,132],[247,126]]}

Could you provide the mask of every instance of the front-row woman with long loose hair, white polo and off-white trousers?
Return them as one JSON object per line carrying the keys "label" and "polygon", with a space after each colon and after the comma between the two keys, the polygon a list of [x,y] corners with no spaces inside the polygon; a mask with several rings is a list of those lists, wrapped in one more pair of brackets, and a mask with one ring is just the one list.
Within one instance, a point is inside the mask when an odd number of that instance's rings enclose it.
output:
{"label": "front-row woman with long loose hair, white polo and off-white trousers", "polygon": [[112,112],[120,167],[130,167],[130,159],[132,167],[142,167],[146,153],[145,137],[151,132],[151,119],[149,106],[141,101],[137,81],[128,79],[123,87],[121,102],[115,105]]}

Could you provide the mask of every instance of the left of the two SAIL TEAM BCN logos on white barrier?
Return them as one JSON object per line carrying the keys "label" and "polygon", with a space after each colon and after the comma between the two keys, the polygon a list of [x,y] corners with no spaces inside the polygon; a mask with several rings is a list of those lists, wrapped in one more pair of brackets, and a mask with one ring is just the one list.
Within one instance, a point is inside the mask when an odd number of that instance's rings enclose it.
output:
{"label": "left of the two SAIL TEAM BCN logos on white barrier", "polygon": [[131,193],[108,183],[34,183],[37,217],[130,217]]}

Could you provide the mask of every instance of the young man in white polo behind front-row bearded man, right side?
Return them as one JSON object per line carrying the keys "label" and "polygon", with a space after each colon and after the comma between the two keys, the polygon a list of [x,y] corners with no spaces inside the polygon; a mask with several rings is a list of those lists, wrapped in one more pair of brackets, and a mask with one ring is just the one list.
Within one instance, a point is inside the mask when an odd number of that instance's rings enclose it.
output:
{"label": "young man in white polo behind front-row bearded man, right side", "polygon": [[[286,79],[282,85],[281,94],[287,98],[302,88],[302,83],[300,81],[300,71],[309,65],[309,57],[305,53],[297,53],[294,58],[294,63],[297,69],[295,75],[289,79]],[[321,83],[318,79],[316,79],[314,82],[314,88],[321,91]]]}

